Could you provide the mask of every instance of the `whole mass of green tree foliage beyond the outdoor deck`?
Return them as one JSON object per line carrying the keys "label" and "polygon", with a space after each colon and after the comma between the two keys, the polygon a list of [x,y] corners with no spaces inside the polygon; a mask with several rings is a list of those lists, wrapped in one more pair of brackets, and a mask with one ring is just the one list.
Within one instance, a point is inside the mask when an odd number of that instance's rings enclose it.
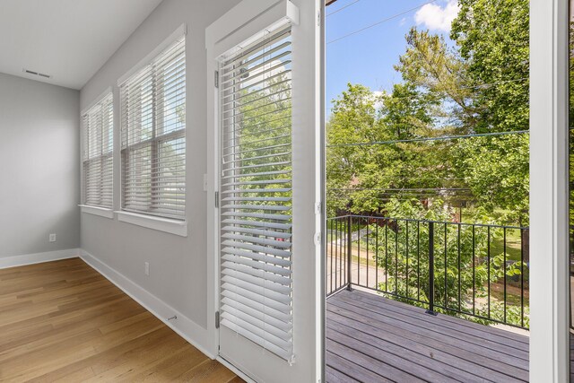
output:
{"label": "whole mass of green tree foliage beyond the outdoor deck", "polygon": [[[422,306],[431,294],[429,221],[446,222],[434,228],[435,302],[520,326],[519,305],[475,303],[505,276],[527,274],[527,231],[515,233],[525,263],[507,263],[494,246],[503,230],[458,226],[457,208],[465,206],[464,222],[528,225],[529,136],[520,133],[528,129],[528,0],[458,3],[452,41],[418,28],[406,34],[400,83],[383,92],[350,83],[333,101],[327,213],[391,217],[366,223],[387,274],[379,289]],[[433,139],[453,135],[464,138]],[[527,326],[527,303],[525,311]]]}

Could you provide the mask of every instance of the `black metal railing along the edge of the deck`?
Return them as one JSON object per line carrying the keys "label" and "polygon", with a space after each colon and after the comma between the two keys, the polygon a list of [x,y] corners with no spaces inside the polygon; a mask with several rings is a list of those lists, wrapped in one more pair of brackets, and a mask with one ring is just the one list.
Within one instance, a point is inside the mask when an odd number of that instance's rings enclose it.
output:
{"label": "black metal railing along the edge of the deck", "polygon": [[528,328],[528,239],[517,226],[330,218],[327,296],[361,287],[431,314]]}

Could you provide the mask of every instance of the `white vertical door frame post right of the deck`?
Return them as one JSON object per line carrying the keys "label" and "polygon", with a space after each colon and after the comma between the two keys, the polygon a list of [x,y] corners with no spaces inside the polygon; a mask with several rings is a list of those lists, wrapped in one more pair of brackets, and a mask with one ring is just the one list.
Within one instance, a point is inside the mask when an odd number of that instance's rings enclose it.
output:
{"label": "white vertical door frame post right of the deck", "polygon": [[530,381],[569,379],[568,0],[530,1]]}

